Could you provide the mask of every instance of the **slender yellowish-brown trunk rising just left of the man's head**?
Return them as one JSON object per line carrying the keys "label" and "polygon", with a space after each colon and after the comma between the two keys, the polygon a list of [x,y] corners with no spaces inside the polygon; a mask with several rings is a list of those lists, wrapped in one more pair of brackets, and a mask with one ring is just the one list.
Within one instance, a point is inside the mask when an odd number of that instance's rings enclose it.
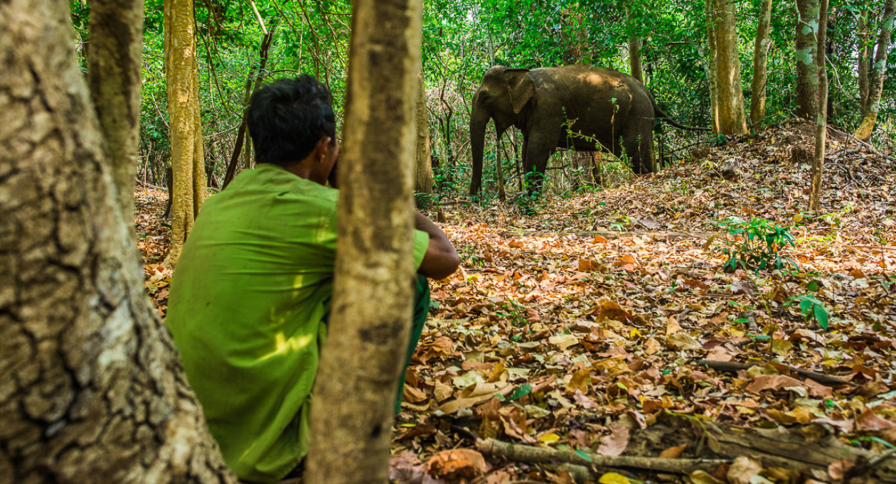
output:
{"label": "slender yellowish-brown trunk rising just left of the man's head", "polygon": [[199,74],[196,67],[196,25],[193,0],[165,0],[165,81],[171,117],[171,169],[174,193],[171,246],[164,264],[174,267],[205,200]]}

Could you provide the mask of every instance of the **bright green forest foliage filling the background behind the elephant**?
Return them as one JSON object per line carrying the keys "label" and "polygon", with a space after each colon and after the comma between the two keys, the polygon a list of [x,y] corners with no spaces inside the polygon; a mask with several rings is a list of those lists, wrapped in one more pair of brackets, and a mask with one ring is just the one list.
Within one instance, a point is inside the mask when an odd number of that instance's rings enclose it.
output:
{"label": "bright green forest foliage filling the background behind the elephant", "polygon": [[[753,40],[760,0],[738,0],[737,30],[740,69],[745,91],[752,80]],[[236,142],[237,126],[256,79],[262,82],[297,73],[311,73],[333,94],[338,124],[345,104],[346,74],[351,21],[349,0],[271,2],[257,0],[259,14],[274,32],[268,62],[260,69],[259,47],[263,30],[252,8],[242,2],[209,0],[195,4],[197,64],[200,76],[202,131],[206,160],[213,176],[220,178]],[[74,42],[86,71],[89,55],[90,4],[70,2]],[[627,9],[625,8],[627,7]],[[482,74],[490,65],[534,68],[564,65],[578,58],[628,72],[625,45],[642,40],[644,82],[658,104],[686,125],[710,124],[706,24],[702,0],[625,4],[608,0],[432,0],[424,6],[423,67],[427,108],[431,121],[432,153],[440,162],[440,192],[463,192],[469,186],[470,100]],[[765,124],[789,117],[796,74],[792,69],[796,8],[776,2],[771,14],[771,50],[768,57],[767,112]],[[883,0],[844,0],[831,11],[831,124],[847,130],[859,122],[857,100],[858,20],[868,16],[870,30],[878,30]],[[144,18],[143,79],[141,106],[141,173],[163,185],[168,165],[168,100],[163,63],[162,0],[147,0]],[[872,38],[875,36],[872,35]],[[896,72],[885,77],[881,107],[882,126],[896,117]],[[748,106],[749,102],[745,102]],[[761,126],[757,126],[759,128]],[[570,135],[577,131],[569,126]],[[668,151],[694,143],[694,134],[669,130],[664,135]],[[489,139],[489,137],[487,137]],[[506,140],[506,138],[505,138]],[[716,143],[726,140],[716,139]],[[517,171],[521,138],[508,143],[510,159],[503,158],[508,190],[525,190]],[[486,152],[494,152],[489,139]],[[251,152],[250,152],[251,154]],[[558,156],[554,157],[559,158]],[[568,158],[567,158],[568,160]],[[630,176],[605,162],[604,185],[609,175]],[[485,167],[484,175],[488,178]],[[613,170],[616,170],[614,172]],[[495,176],[484,189],[494,191]],[[547,182],[556,186],[559,177]],[[514,181],[515,180],[515,181]],[[513,183],[512,183],[513,181]],[[573,180],[561,191],[573,189]]]}

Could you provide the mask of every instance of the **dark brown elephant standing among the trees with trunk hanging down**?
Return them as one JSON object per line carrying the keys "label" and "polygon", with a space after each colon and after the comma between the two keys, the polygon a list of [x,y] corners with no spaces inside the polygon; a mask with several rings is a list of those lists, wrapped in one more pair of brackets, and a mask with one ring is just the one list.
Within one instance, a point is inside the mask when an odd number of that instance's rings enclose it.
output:
{"label": "dark brown elephant standing among the trees with trunk hanging down", "polygon": [[498,140],[510,126],[520,129],[523,169],[527,174],[538,173],[533,184],[538,192],[547,159],[558,149],[610,151],[616,156],[625,150],[635,173],[655,171],[650,154],[656,118],[682,129],[710,131],[676,123],[657,106],[642,82],[626,73],[587,65],[531,70],[495,65],[483,75],[473,97],[470,194],[478,194],[482,185],[489,120],[495,121]]}

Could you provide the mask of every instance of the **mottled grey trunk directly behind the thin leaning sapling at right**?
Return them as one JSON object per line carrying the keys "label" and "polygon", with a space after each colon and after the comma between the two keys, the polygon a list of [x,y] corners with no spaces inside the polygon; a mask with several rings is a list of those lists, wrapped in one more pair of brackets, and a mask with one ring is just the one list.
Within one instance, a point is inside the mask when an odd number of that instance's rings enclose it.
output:
{"label": "mottled grey trunk directly behind the thin leaning sapling at right", "polygon": [[818,0],[797,0],[797,117],[818,112]]}

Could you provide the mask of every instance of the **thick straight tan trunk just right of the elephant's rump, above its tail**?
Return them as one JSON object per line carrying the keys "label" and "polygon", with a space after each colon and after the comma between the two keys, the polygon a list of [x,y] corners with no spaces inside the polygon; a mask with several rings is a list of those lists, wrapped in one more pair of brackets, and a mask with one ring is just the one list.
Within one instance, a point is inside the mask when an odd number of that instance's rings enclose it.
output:
{"label": "thick straight tan trunk just right of the elephant's rump, above its tail", "polygon": [[719,133],[745,134],[744,90],[740,82],[737,49],[737,13],[734,0],[715,2],[716,87],[719,91]]}

